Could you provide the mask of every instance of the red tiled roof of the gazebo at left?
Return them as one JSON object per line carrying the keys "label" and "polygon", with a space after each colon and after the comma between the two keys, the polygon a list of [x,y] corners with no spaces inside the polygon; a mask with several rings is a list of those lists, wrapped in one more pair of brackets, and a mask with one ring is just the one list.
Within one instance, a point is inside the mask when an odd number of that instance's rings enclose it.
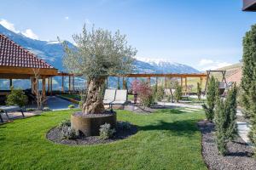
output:
{"label": "red tiled roof of the gazebo at left", "polygon": [[0,66],[54,69],[19,44],[0,34]]}

